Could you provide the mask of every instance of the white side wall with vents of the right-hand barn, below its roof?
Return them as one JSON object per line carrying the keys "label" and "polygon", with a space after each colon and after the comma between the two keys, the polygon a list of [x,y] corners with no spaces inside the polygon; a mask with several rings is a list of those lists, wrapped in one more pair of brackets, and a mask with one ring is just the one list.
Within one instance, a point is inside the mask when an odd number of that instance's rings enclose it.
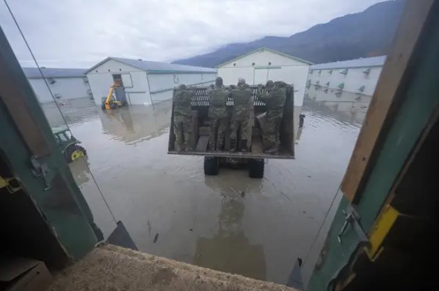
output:
{"label": "white side wall with vents of the right-hand barn, below its roof", "polygon": [[[313,74],[308,75],[308,80],[312,85],[322,85],[323,87],[329,87],[338,89],[338,85],[345,83],[343,88],[347,92],[358,92],[362,86],[365,89],[362,94],[372,95],[374,94],[376,83],[378,82],[381,74],[382,67],[359,67],[359,68],[347,68],[347,74],[341,74],[344,69],[315,69]],[[364,71],[370,69],[369,74],[365,74]],[[328,83],[329,82],[329,86]]]}

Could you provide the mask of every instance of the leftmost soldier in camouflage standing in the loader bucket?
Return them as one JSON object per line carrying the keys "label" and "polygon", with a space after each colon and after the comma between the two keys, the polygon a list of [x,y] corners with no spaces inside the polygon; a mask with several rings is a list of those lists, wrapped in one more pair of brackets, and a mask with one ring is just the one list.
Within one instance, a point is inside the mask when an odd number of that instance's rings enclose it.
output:
{"label": "leftmost soldier in camouflage standing in the loader bucket", "polygon": [[174,134],[176,151],[192,151],[192,115],[190,101],[192,90],[180,85],[174,93]]}

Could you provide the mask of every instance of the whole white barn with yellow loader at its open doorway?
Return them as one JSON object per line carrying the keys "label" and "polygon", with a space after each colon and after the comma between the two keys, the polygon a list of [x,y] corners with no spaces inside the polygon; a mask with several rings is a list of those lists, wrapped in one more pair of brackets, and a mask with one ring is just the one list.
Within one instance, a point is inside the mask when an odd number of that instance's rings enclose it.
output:
{"label": "whole white barn with yellow loader at its open doorway", "polygon": [[206,67],[157,63],[129,58],[109,57],[85,73],[96,104],[101,104],[110,85],[122,80],[126,101],[131,105],[148,105],[172,98],[175,87],[210,85],[217,72]]}

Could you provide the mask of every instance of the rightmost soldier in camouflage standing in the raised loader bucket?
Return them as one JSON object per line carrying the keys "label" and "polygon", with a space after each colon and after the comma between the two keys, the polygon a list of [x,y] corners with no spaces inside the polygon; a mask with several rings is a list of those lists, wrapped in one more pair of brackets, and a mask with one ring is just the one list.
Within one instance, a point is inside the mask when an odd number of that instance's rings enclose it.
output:
{"label": "rightmost soldier in camouflage standing in the raised loader bucket", "polygon": [[264,144],[269,144],[270,148],[266,149],[264,153],[277,153],[279,151],[279,130],[286,99],[282,85],[281,83],[274,85],[273,81],[267,81],[267,85],[265,85],[267,93],[258,93],[260,100],[264,101],[267,107],[267,132],[264,133],[263,139]]}

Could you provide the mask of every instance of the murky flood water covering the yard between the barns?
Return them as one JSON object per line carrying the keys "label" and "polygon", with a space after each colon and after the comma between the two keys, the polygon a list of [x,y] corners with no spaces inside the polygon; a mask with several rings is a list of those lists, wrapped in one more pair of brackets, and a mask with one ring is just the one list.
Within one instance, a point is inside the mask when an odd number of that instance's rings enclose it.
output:
{"label": "murky flood water covering the yard between the barns", "polygon": [[[108,112],[89,99],[61,106],[88,151],[69,166],[105,235],[115,222],[88,167],[140,251],[285,284],[338,190],[367,109],[359,101],[369,97],[346,93],[334,106],[340,97],[331,94],[308,90],[295,110],[306,115],[296,159],[268,160],[263,179],[239,169],[204,176],[202,157],[167,155],[169,102]],[[53,126],[63,124],[54,104],[42,107]]]}

